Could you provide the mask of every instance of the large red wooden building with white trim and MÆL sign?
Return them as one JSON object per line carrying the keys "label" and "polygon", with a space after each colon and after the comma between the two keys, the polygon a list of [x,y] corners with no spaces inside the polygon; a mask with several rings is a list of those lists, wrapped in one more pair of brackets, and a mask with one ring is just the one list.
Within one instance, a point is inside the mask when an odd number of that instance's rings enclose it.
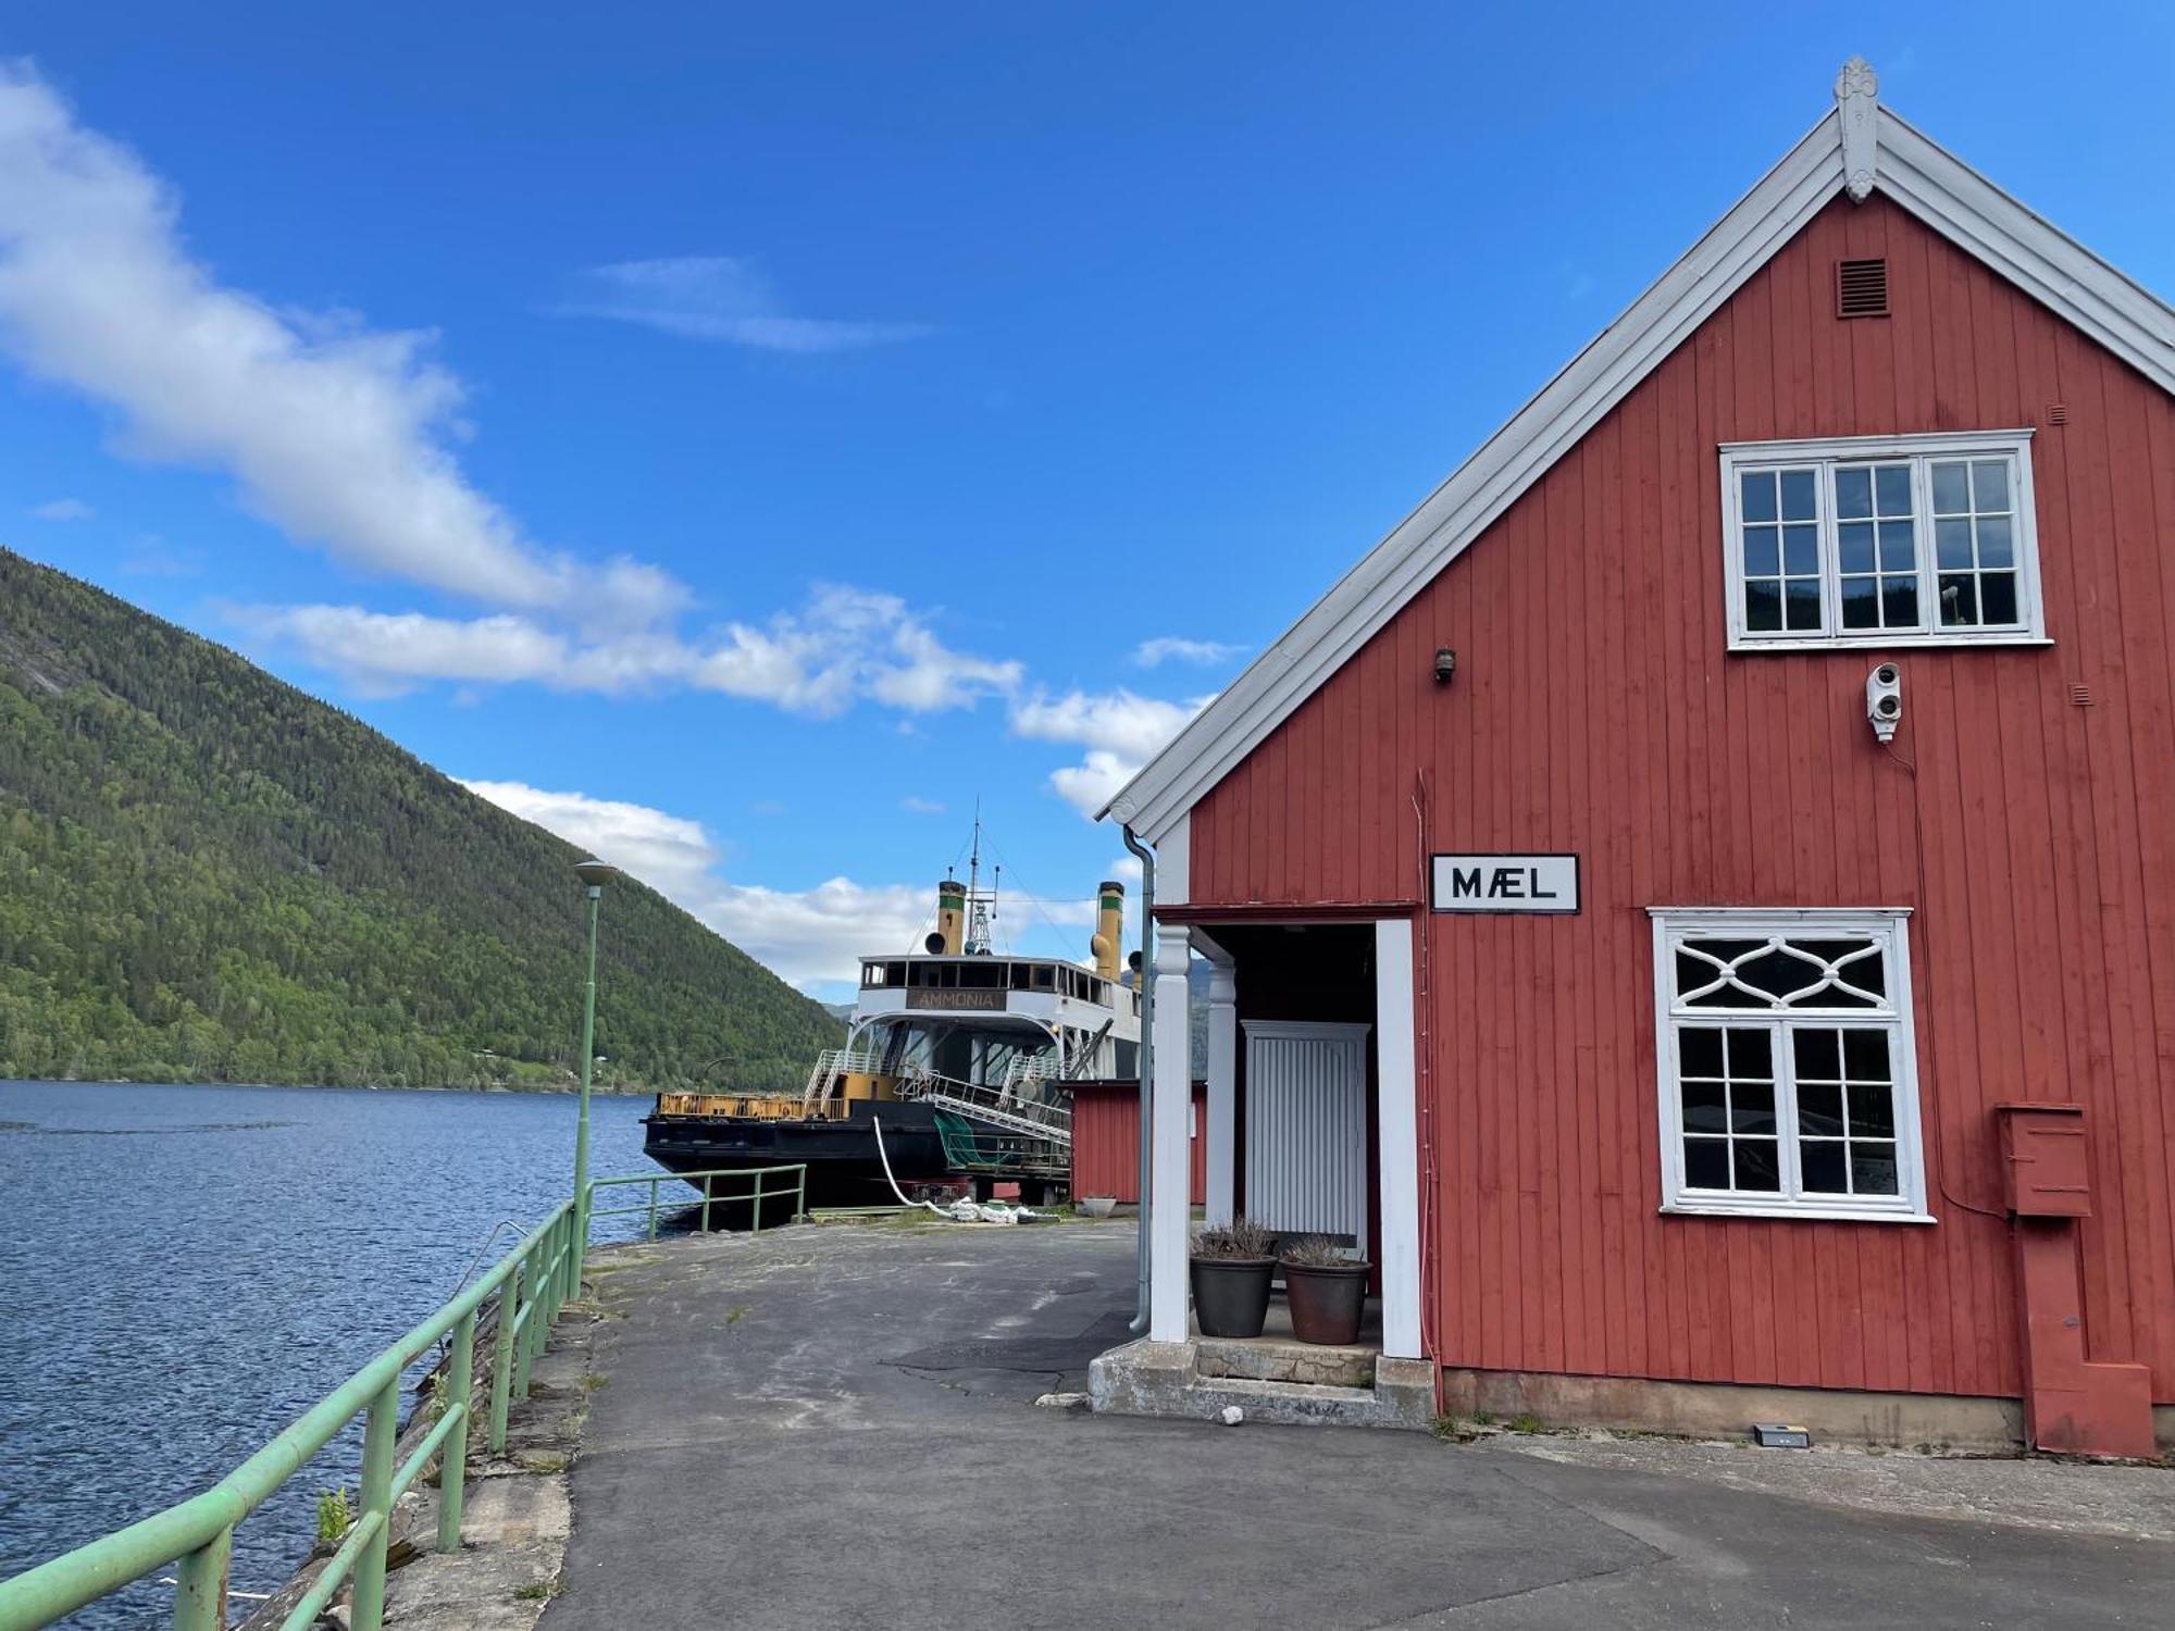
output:
{"label": "large red wooden building with white trim and M\u00c6L sign", "polygon": [[1207,1074],[1209,1209],[1364,1231],[1453,1403],[2151,1453],[2171,394],[2175,313],[1853,61],[1111,802],[1157,1150]]}

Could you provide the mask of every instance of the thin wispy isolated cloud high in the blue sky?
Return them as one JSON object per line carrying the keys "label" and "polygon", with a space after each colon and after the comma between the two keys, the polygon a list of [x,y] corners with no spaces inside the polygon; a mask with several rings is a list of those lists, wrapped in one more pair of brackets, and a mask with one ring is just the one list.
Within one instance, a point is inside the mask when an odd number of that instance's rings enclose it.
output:
{"label": "thin wispy isolated cloud high in the blue sky", "polygon": [[731,254],[592,265],[576,274],[572,298],[552,311],[633,322],[683,339],[803,354],[887,346],[929,333],[916,322],[790,318],[755,263]]}

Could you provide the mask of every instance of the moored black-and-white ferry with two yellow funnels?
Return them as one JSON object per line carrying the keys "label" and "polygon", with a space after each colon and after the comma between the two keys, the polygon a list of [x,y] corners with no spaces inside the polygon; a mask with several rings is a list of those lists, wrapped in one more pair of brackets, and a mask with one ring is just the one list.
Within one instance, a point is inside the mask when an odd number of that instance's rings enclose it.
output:
{"label": "moored black-and-white ferry with two yellow funnels", "polygon": [[[861,959],[844,1048],[816,1057],[798,1094],[659,1094],[644,1150],[679,1174],[805,1166],[809,1207],[890,1205],[937,1183],[1029,1200],[1061,1187],[1072,1090],[1140,1070],[1138,981],[1120,972],[1124,885],[1096,892],[1092,961],[992,950],[996,881],[937,883],[920,953]],[[700,1187],[700,1181],[689,1176]],[[731,1194],[731,1181],[716,1181]]]}

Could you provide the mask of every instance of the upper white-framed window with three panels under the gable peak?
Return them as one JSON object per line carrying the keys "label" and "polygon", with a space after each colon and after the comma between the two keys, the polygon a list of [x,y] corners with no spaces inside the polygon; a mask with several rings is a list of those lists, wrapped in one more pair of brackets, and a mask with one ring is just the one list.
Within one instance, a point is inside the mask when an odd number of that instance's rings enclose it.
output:
{"label": "upper white-framed window with three panels under the gable peak", "polygon": [[2044,644],[2031,431],[1723,444],[1729,648]]}

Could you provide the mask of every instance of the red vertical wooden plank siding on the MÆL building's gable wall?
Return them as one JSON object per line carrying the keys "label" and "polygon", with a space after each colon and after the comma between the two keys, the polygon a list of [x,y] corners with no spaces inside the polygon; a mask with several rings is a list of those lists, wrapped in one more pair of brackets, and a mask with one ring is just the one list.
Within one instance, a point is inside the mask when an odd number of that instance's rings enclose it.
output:
{"label": "red vertical wooden plank siding on the M\u00c6L building's gable wall", "polygon": [[[1890,318],[1834,315],[1842,257],[1888,259]],[[2051,648],[1903,648],[1894,755],[1875,652],[1725,650],[1718,444],[2010,426]],[[1196,907],[1409,902],[1431,848],[1583,855],[1581,916],[1425,937],[1438,1361],[2018,1394],[1990,1107],[2053,1098],[2092,1135],[2090,1353],[2175,1400],[2171,546],[2175,402],[1838,200],[1194,807]],[[1657,1213],[1655,905],[1914,909],[1934,1227]]]}

